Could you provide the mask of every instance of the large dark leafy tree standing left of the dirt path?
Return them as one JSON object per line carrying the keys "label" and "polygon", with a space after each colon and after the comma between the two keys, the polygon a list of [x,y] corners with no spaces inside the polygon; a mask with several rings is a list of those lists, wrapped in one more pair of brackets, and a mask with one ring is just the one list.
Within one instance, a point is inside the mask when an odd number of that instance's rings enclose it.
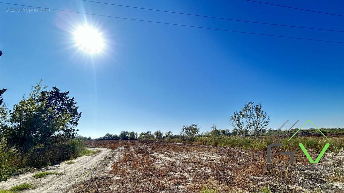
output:
{"label": "large dark leafy tree standing left of the dirt path", "polygon": [[3,129],[8,143],[24,151],[37,144],[74,138],[74,127],[81,115],[68,92],[61,93],[56,87],[52,92],[44,91],[41,82],[32,88],[28,98],[14,105],[10,125]]}

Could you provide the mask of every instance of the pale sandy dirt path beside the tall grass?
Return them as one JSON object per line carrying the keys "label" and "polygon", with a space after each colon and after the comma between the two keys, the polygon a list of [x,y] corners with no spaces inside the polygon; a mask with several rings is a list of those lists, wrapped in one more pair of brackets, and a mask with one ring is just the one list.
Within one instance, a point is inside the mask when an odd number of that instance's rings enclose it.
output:
{"label": "pale sandy dirt path beside the tall grass", "polygon": [[[89,148],[100,150],[92,156],[78,157],[72,161],[76,163],[66,164],[65,162],[50,166],[41,170],[18,175],[6,181],[0,182],[0,189],[9,189],[14,185],[21,183],[32,183],[37,187],[35,189],[23,192],[66,192],[75,182],[87,180],[97,175],[99,172],[106,173],[111,170],[112,160],[115,159],[118,150],[107,148]],[[46,177],[33,179],[35,173],[42,171],[60,172],[61,175],[47,175]]]}

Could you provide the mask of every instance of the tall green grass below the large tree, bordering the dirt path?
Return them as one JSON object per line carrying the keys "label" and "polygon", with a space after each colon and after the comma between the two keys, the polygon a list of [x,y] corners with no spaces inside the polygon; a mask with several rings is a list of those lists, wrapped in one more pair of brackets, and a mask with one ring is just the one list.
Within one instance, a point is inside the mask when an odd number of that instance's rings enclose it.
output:
{"label": "tall green grass below the large tree, bordering the dirt path", "polygon": [[69,140],[49,145],[37,145],[22,153],[8,148],[6,140],[0,141],[0,181],[13,175],[31,171],[67,159],[73,159],[86,152],[82,141]]}

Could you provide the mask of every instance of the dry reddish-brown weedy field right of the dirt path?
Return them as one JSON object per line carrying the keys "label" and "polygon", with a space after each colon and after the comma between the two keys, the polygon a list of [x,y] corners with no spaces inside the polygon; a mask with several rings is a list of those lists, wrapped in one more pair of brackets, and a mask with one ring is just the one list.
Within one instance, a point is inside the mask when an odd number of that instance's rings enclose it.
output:
{"label": "dry reddish-brown weedy field right of the dirt path", "polygon": [[[317,137],[296,140],[322,144]],[[319,164],[332,164],[334,168],[321,171],[266,170],[264,145],[243,149],[143,140],[90,140],[85,141],[86,146],[114,149],[116,158],[106,175],[78,182],[74,188],[76,192],[344,192],[343,138],[330,140],[336,145],[326,151]],[[294,149],[285,146],[271,150],[273,164],[288,164],[289,156],[279,152]],[[319,154],[316,148],[308,148],[308,152],[314,159]],[[293,164],[309,161],[298,150]]]}

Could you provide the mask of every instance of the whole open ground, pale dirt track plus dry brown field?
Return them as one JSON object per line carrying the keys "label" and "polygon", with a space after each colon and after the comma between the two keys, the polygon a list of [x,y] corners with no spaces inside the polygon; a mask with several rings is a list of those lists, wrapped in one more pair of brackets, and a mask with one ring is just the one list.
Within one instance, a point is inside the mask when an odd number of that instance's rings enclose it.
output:
{"label": "whole open ground, pale dirt track plus dry brown field", "polygon": [[[1,182],[1,189],[21,183],[24,192],[344,192],[344,152],[327,151],[321,165],[330,170],[266,170],[266,149],[186,145],[141,140],[86,141],[100,150],[46,169]],[[288,164],[282,149],[271,151],[273,164]],[[283,149],[284,150],[284,149]],[[318,153],[309,149],[311,157]],[[307,164],[295,152],[294,164]],[[34,179],[38,172],[57,172]]]}

